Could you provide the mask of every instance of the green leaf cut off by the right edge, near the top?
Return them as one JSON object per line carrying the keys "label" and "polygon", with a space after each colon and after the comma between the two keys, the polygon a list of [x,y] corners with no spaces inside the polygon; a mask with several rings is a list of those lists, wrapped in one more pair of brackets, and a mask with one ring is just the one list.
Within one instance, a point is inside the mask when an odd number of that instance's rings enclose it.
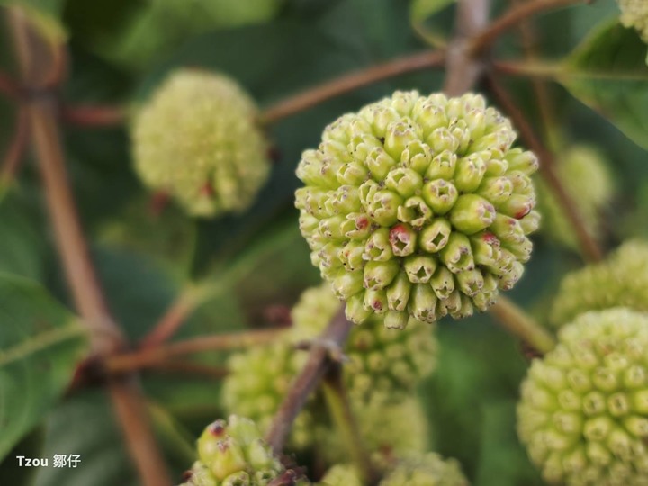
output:
{"label": "green leaf cut off by the right edge, near the top", "polygon": [[635,30],[607,23],[564,61],[558,80],[626,137],[648,148],[646,45]]}

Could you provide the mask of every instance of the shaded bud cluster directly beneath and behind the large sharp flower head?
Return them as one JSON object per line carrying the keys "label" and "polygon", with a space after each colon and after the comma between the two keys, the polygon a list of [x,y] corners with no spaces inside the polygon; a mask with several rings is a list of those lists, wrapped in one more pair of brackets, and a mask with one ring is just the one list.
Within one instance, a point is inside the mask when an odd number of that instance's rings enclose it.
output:
{"label": "shaded bud cluster directly beneath and behind the large sharp flower head", "polygon": [[[296,344],[320,336],[339,309],[328,284],[302,293],[293,307],[290,339]],[[373,314],[365,326],[351,329],[344,352],[347,389],[356,401],[378,397],[400,401],[437,364],[435,328],[411,317],[402,331],[383,325],[386,315]]]}

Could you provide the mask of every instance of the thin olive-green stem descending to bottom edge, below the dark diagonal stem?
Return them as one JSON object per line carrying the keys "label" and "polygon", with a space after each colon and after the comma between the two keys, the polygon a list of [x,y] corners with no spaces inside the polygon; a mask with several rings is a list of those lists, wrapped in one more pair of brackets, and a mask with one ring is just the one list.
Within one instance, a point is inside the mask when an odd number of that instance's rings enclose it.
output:
{"label": "thin olive-green stem descending to bottom edge, below the dark diagonal stem", "polygon": [[377,484],[380,475],[375,470],[360,436],[356,418],[348,401],[347,389],[342,380],[341,365],[336,363],[330,366],[321,388],[338,432],[347,444],[348,452],[356,463],[365,484]]}

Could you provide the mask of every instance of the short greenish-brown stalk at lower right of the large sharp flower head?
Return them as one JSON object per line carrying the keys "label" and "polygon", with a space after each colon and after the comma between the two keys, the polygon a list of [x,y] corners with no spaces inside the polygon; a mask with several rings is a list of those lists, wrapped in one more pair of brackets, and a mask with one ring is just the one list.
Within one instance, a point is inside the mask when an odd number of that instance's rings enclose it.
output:
{"label": "short greenish-brown stalk at lower right of the large sharp flower head", "polygon": [[514,302],[500,295],[498,301],[489,308],[504,329],[522,339],[527,345],[545,355],[555,347],[555,339],[527,312]]}

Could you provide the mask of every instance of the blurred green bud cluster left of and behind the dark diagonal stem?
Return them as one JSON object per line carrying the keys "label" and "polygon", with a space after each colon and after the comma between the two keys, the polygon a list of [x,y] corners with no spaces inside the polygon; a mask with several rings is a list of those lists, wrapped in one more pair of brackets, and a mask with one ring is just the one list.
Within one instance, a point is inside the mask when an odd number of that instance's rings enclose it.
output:
{"label": "blurred green bud cluster left of and behind the dark diagonal stem", "polygon": [[[225,410],[253,419],[265,433],[294,378],[302,370],[306,357],[305,353],[295,351],[284,341],[250,347],[230,356],[229,374],[221,394]],[[320,433],[324,433],[319,411],[322,410],[318,408],[317,398],[311,397],[293,422],[291,446],[296,449],[311,446]]]}

